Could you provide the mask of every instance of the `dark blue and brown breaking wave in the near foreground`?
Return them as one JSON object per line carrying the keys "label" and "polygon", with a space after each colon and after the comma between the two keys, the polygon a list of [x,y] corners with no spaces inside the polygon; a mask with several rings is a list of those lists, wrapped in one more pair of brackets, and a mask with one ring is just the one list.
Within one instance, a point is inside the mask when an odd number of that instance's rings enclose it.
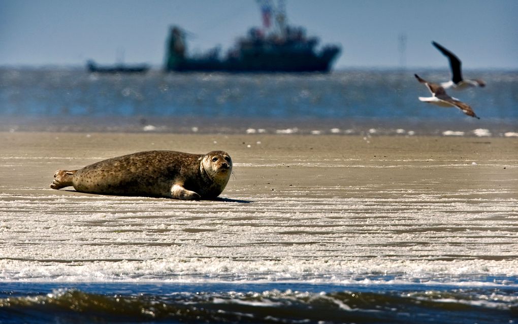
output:
{"label": "dark blue and brown breaking wave in the near foreground", "polygon": [[[508,291],[422,285],[5,284],[2,323],[513,323]],[[292,290],[293,288],[297,290]],[[281,290],[279,290],[281,289]],[[447,290],[448,289],[448,290]],[[492,289],[494,291],[492,292]],[[47,292],[49,291],[49,292]]]}

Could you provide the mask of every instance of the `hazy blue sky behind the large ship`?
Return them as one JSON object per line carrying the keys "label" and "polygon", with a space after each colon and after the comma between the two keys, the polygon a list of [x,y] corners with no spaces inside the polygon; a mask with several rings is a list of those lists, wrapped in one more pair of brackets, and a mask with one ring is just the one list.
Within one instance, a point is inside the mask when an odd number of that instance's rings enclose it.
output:
{"label": "hazy blue sky behind the large ship", "polygon": [[[408,67],[445,67],[435,40],[464,68],[518,69],[516,0],[287,0],[290,24],[340,44],[336,68],[396,67],[406,35]],[[254,0],[0,0],[0,66],[160,66],[171,24],[190,32],[191,52],[223,52],[260,26]]]}

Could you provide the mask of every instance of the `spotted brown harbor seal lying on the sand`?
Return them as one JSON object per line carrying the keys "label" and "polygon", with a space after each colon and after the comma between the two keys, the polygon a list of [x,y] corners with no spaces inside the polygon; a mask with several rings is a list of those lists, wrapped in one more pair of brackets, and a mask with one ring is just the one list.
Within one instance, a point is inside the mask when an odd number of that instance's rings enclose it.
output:
{"label": "spotted brown harbor seal lying on the sand", "polygon": [[214,199],[225,189],[232,159],[224,151],[191,154],[145,151],[111,158],[79,170],[58,170],[52,189],[123,196]]}

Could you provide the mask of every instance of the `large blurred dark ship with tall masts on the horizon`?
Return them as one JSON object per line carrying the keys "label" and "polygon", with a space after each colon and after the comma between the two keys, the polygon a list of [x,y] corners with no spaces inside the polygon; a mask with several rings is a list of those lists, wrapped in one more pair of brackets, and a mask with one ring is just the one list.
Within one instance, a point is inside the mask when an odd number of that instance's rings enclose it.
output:
{"label": "large blurred dark ship with tall masts on the horizon", "polygon": [[[325,45],[317,49],[318,37],[306,36],[303,27],[286,23],[285,5],[269,0],[258,1],[263,25],[252,27],[233,48],[221,55],[215,47],[206,53],[189,56],[186,32],[171,26],[166,44],[165,71],[175,72],[329,72],[341,49]],[[274,18],[274,19],[272,19]],[[271,23],[275,21],[275,24]]]}

